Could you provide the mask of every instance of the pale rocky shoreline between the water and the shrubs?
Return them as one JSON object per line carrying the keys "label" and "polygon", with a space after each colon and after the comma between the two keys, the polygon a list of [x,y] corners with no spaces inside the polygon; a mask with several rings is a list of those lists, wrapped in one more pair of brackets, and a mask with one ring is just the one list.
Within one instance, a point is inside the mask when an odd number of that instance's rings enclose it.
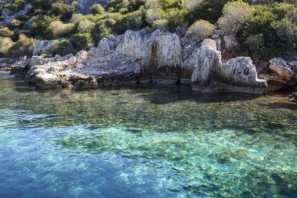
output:
{"label": "pale rocky shoreline between the water and the shrubs", "polygon": [[4,58],[0,65],[43,89],[86,90],[137,83],[185,84],[202,93],[263,94],[267,90],[297,89],[297,62],[274,58],[269,73],[258,76],[249,57],[223,63],[221,53],[227,53],[236,42],[229,37],[228,43],[222,42],[219,34],[213,38],[197,45],[160,29],[151,34],[127,30],[124,35],[107,36],[89,52],[51,58],[40,56],[49,43],[40,41],[34,49],[39,56],[17,61]]}

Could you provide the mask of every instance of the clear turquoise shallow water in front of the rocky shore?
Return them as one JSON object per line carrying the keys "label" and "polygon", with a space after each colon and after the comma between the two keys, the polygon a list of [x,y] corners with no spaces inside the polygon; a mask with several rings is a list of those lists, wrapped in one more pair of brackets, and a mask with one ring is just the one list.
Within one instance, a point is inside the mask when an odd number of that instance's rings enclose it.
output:
{"label": "clear turquoise shallow water in front of the rocky shore", "polygon": [[288,94],[37,91],[0,74],[0,197],[295,198]]}

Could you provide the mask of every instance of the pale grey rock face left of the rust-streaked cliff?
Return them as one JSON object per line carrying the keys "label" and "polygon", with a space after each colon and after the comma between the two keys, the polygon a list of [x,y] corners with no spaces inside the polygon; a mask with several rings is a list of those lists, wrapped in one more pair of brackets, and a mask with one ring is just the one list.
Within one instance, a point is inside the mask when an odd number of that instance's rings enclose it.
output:
{"label": "pale grey rock face left of the rust-streaked cliff", "polygon": [[139,31],[127,30],[116,50],[124,55],[141,57],[146,45]]}

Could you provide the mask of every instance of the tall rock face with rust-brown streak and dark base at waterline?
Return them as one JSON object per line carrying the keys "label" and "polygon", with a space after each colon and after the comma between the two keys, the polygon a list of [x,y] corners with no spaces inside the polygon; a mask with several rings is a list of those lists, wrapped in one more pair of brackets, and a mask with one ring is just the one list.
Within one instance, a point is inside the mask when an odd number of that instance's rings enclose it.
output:
{"label": "tall rock face with rust-brown streak and dark base at waterline", "polygon": [[179,83],[182,57],[180,39],[177,35],[155,31],[150,35],[142,54],[140,81]]}

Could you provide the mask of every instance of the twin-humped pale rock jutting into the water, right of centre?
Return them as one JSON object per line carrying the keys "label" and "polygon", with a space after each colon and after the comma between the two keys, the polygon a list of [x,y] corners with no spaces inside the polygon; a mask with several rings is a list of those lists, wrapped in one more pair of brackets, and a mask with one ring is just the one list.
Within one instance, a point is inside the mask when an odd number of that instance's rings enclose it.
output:
{"label": "twin-humped pale rock jutting into the water, right of centre", "polygon": [[255,66],[249,57],[237,57],[222,64],[221,52],[212,48],[213,46],[201,47],[194,57],[184,63],[184,67],[194,68],[191,79],[193,90],[204,93],[266,92],[267,82],[257,79]]}

